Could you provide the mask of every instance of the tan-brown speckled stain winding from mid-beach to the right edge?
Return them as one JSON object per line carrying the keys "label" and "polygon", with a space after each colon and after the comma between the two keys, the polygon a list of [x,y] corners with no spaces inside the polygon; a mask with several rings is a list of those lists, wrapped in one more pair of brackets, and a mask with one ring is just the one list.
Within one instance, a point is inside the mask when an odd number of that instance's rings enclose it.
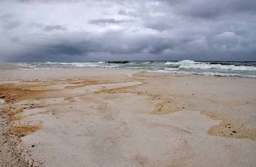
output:
{"label": "tan-brown speckled stain winding from mid-beach to the right edge", "polygon": [[[134,77],[149,77],[150,75],[147,72],[139,72],[133,75]],[[143,84],[146,82],[143,78],[140,79],[143,81]],[[256,141],[256,129],[255,128],[248,128],[242,124],[237,123],[235,120],[228,118],[225,115],[221,115],[218,112],[212,112],[211,110],[205,107],[202,109],[201,106],[197,106],[191,103],[185,103],[182,99],[196,99],[195,97],[187,97],[187,96],[169,96],[166,98],[164,95],[152,95],[149,92],[142,93],[136,91],[135,88],[138,88],[138,85],[131,86],[131,87],[124,87],[124,88],[116,88],[111,90],[101,90],[94,92],[98,93],[108,93],[108,94],[116,94],[116,93],[135,93],[137,95],[147,95],[147,100],[159,100],[157,104],[155,104],[155,109],[151,111],[149,114],[153,115],[166,115],[174,112],[179,112],[181,110],[199,110],[201,114],[206,115],[207,117],[213,120],[222,120],[219,125],[212,126],[208,130],[208,134],[225,137],[225,138],[249,138],[250,140]],[[223,104],[216,99],[207,99],[208,101],[216,104]],[[235,106],[234,104],[227,104],[227,106]],[[240,103],[238,105],[241,105]]]}

